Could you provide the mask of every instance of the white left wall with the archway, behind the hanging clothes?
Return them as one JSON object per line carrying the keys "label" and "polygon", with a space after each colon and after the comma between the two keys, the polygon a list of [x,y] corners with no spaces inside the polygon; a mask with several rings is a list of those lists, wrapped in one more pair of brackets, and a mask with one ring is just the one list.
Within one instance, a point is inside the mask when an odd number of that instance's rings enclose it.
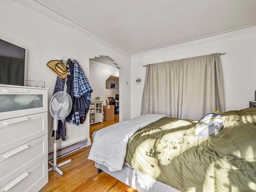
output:
{"label": "white left wall with the archway, behind the hanging clothes", "polygon": [[[122,100],[120,105],[122,105],[121,109],[125,110],[120,114],[123,119],[131,117],[131,57],[129,55],[9,0],[1,1],[0,23],[1,39],[26,48],[27,78],[45,81],[49,99],[52,96],[56,79],[56,75],[46,66],[49,60],[62,57],[76,59],[89,76],[89,58],[99,55],[112,57],[121,68],[120,95]],[[129,82],[128,86],[126,86],[126,81]],[[58,146],[62,147],[85,138],[89,139],[88,120],[80,126],[68,125],[67,141],[58,140]],[[52,126],[50,115],[48,121],[50,134]],[[49,150],[52,150],[52,142],[50,138]]]}

